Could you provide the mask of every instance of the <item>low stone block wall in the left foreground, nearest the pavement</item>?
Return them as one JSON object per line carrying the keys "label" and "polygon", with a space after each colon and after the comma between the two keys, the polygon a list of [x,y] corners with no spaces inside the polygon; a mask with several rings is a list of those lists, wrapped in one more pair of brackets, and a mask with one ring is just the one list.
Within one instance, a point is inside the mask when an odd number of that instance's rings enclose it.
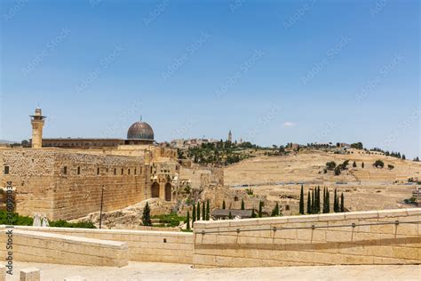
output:
{"label": "low stone block wall in the left foreground, nearest the pavement", "polygon": [[[2,227],[2,245],[6,245],[8,239],[5,231]],[[125,243],[39,231],[13,229],[12,250],[1,247],[2,259],[6,259],[8,251],[12,251],[13,261],[114,267],[128,265]]]}

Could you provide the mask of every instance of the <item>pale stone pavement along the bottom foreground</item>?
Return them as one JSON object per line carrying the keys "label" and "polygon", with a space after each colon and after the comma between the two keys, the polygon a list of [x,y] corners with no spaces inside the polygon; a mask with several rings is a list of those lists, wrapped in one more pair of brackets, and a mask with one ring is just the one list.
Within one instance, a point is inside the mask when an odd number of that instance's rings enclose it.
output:
{"label": "pale stone pavement along the bottom foreground", "polygon": [[14,262],[13,277],[20,269],[41,269],[41,280],[86,277],[87,280],[421,280],[421,265],[303,266],[249,269],[192,269],[186,264],[130,262],[123,268],[85,267]]}

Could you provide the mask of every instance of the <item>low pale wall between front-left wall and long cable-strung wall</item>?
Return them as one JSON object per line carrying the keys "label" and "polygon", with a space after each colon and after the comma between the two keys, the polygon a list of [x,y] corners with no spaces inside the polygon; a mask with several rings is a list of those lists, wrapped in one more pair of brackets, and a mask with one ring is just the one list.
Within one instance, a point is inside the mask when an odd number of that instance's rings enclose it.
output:
{"label": "low pale wall between front-left wall and long cable-strung wall", "polygon": [[34,227],[16,227],[16,229],[123,242],[128,245],[126,251],[129,261],[155,261],[187,264],[193,262],[194,245],[192,233]]}

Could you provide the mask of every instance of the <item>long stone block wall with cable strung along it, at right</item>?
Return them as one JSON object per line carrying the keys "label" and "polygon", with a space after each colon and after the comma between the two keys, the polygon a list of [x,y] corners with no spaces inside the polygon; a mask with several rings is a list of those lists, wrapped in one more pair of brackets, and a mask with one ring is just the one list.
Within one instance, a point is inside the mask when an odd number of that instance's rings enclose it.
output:
{"label": "long stone block wall with cable strung along it, at right", "polygon": [[[421,208],[198,221],[193,263],[196,268],[420,264],[421,223],[405,221],[421,221]],[[385,222],[392,224],[379,224]],[[219,232],[227,230],[233,232]]]}

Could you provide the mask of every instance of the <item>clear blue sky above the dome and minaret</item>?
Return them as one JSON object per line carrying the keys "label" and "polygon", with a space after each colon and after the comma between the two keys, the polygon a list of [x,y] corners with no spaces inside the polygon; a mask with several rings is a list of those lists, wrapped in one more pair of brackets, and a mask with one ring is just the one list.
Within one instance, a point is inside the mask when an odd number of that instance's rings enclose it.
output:
{"label": "clear blue sky above the dome and minaret", "polygon": [[418,1],[1,1],[0,139],[362,141],[420,155]]}

